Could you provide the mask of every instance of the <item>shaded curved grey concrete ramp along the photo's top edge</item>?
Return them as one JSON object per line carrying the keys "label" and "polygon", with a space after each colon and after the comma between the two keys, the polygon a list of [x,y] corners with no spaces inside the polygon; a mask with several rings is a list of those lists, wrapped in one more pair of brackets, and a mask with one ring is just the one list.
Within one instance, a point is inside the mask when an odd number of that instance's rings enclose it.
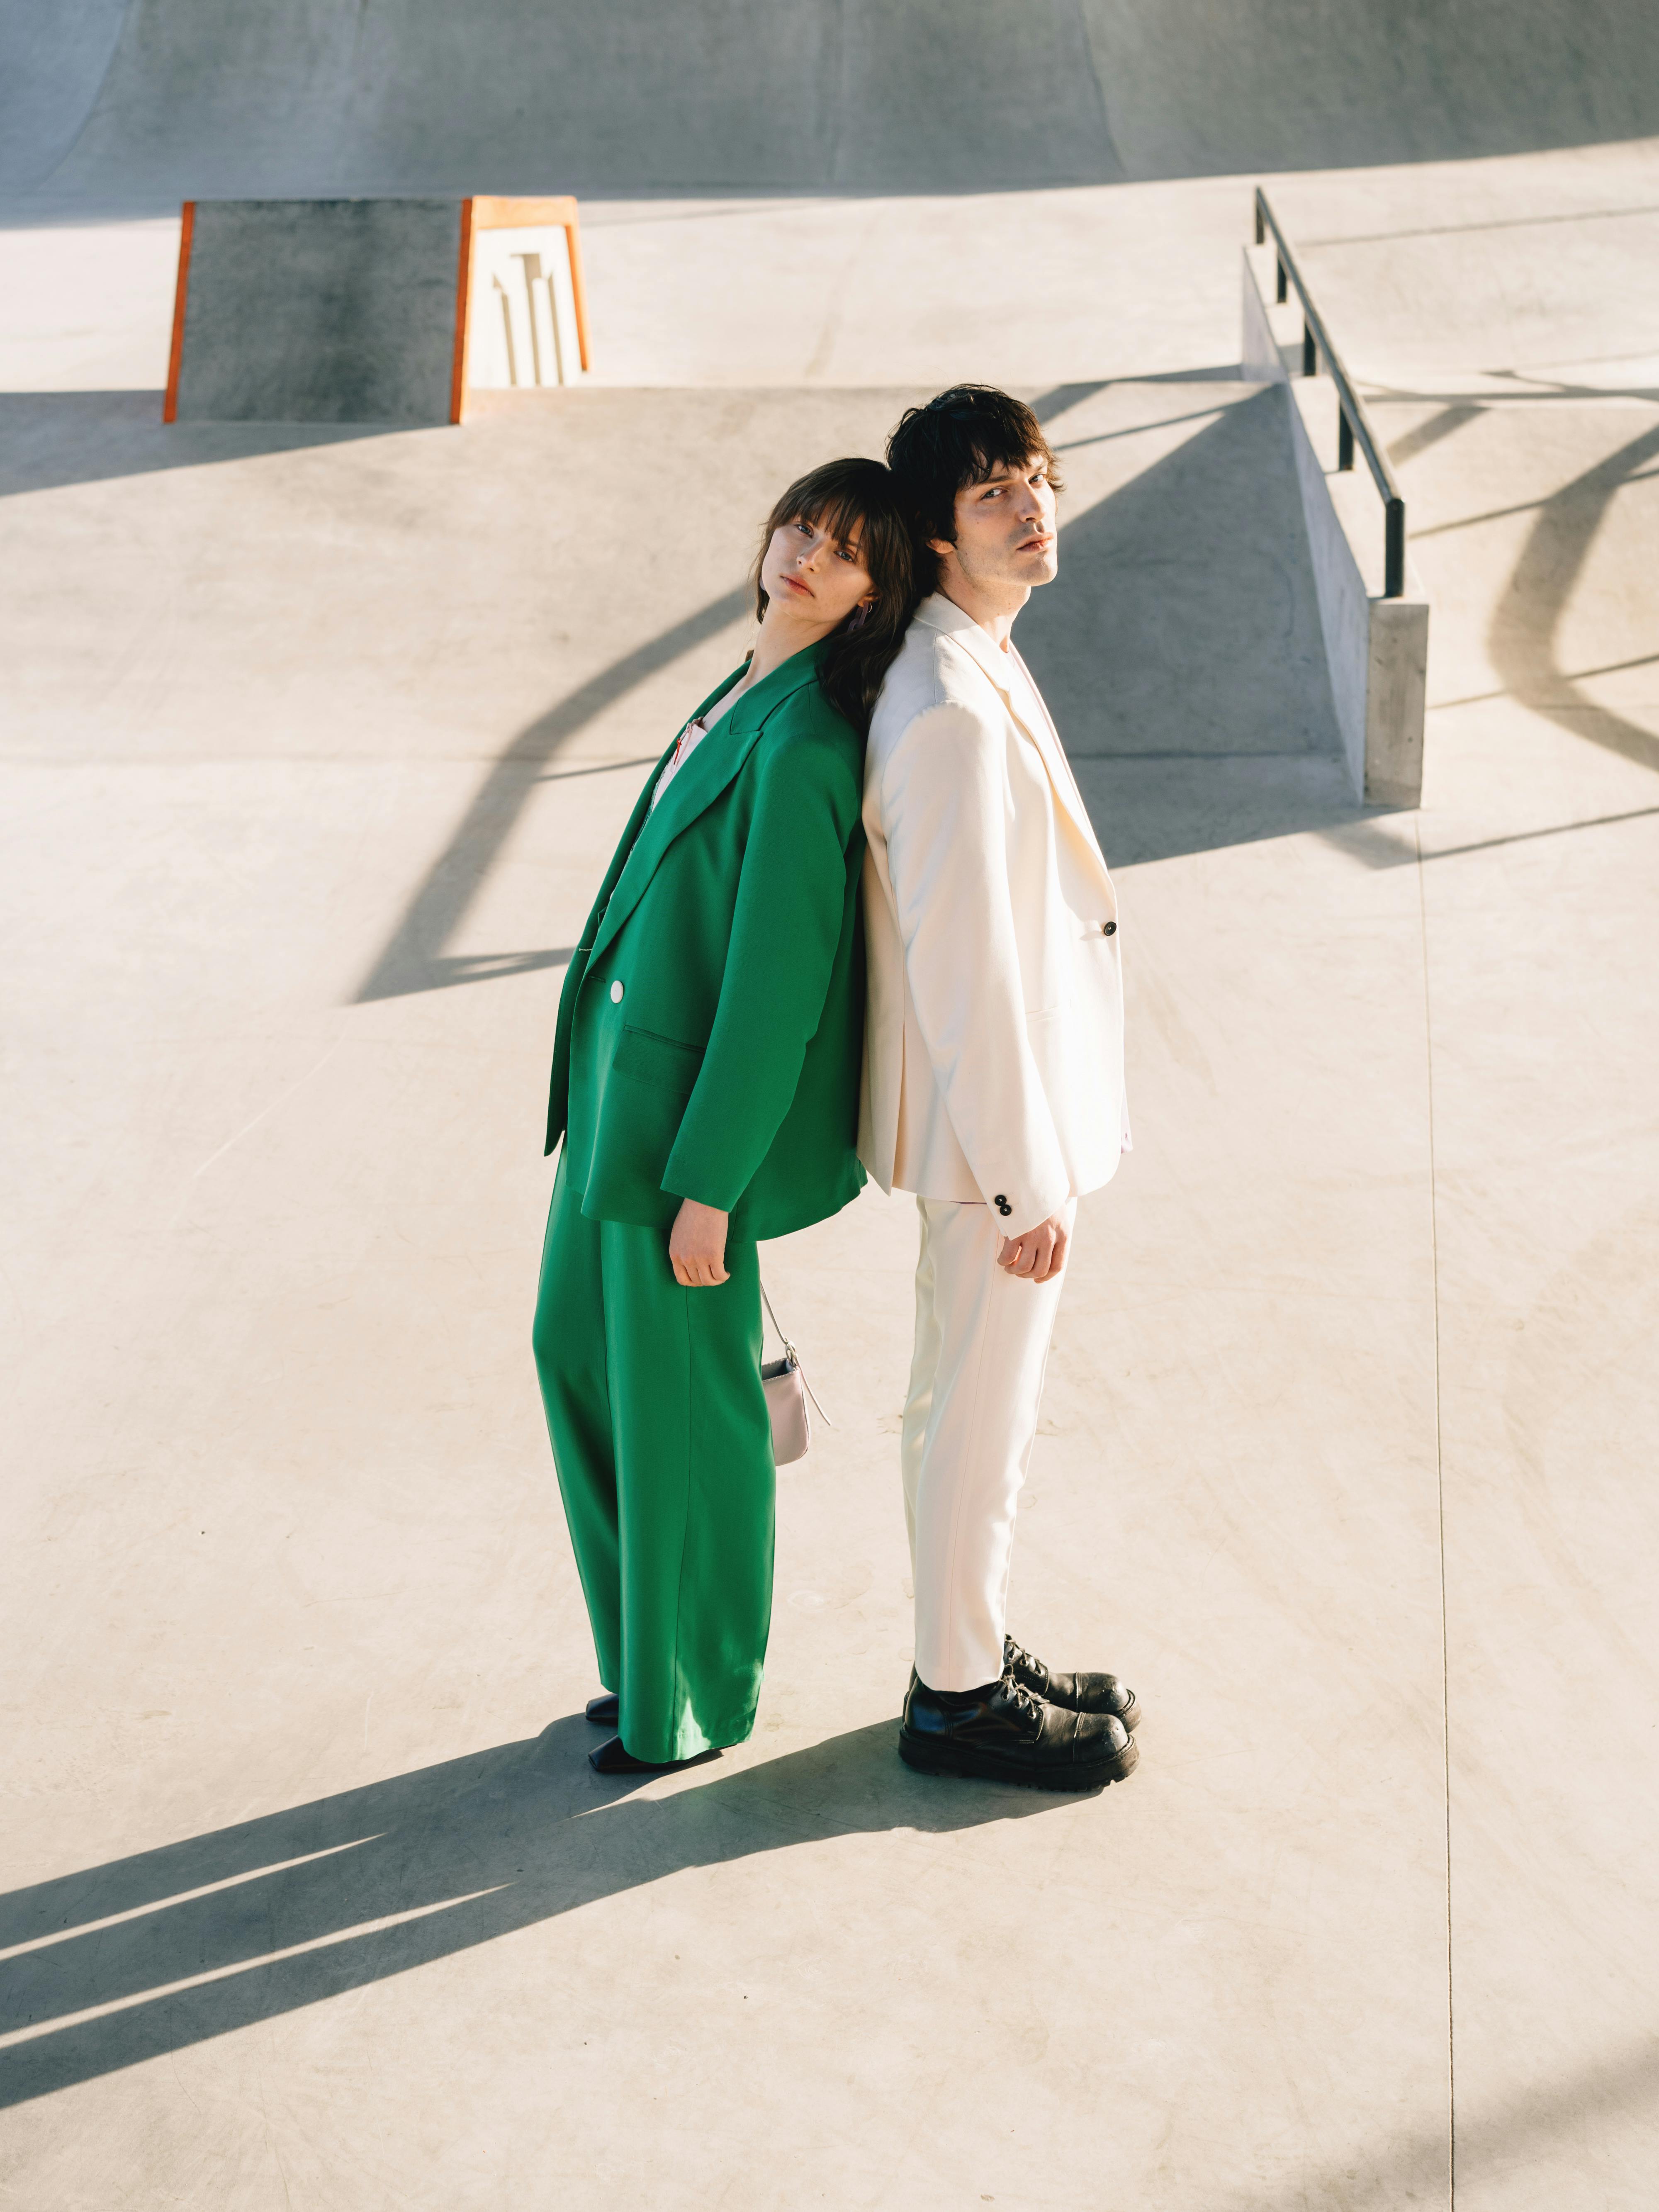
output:
{"label": "shaded curved grey concrete ramp along the photo's top edge", "polygon": [[0,184],[69,204],[949,192],[1659,131],[1652,0],[128,0],[113,58],[115,0],[4,9],[31,119]]}

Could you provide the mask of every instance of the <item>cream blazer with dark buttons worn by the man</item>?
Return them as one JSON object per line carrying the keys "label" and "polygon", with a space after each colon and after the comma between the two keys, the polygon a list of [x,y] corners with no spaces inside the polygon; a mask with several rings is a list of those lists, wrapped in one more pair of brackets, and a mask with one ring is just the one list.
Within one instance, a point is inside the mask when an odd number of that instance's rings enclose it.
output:
{"label": "cream blazer with dark buttons worn by the man", "polygon": [[858,1157],[1018,1237],[1128,1150],[1117,896],[1031,672],[938,593],[876,701],[865,834]]}

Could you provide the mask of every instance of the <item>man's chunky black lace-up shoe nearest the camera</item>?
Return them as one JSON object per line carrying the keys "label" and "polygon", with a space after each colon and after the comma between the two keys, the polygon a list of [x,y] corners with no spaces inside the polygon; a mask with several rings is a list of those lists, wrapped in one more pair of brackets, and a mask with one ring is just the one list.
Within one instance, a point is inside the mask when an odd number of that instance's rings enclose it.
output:
{"label": "man's chunky black lace-up shoe nearest the camera", "polygon": [[911,1672],[898,1756],[922,1774],[1102,1790],[1133,1774],[1139,1752],[1117,1714],[1046,1705],[1011,1674],[984,1690],[940,1694]]}

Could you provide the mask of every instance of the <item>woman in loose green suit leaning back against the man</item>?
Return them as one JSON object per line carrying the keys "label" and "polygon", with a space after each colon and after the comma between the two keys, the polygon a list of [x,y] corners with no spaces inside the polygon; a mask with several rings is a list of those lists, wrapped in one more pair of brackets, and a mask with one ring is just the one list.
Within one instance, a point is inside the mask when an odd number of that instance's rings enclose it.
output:
{"label": "woman in loose green suit leaning back against the man", "polygon": [[757,1239],[856,1197],[869,710],[914,611],[894,480],[790,484],[761,633],[653,768],[564,978],[535,1365],[593,1621],[591,1754],[741,1743],[772,1621]]}

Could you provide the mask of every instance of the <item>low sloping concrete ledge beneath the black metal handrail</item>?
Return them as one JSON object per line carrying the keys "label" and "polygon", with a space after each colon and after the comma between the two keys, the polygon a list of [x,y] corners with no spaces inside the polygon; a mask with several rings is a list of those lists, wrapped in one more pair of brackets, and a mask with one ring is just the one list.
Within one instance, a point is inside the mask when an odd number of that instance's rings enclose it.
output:
{"label": "low sloping concrete ledge beneath the black metal handrail", "polygon": [[1241,369],[1290,394],[1290,447],[1354,790],[1369,805],[1413,807],[1422,794],[1429,597],[1409,560],[1405,597],[1383,597],[1376,487],[1363,462],[1336,467],[1336,387],[1292,374],[1298,367],[1301,307],[1274,305],[1274,250],[1248,246]]}

